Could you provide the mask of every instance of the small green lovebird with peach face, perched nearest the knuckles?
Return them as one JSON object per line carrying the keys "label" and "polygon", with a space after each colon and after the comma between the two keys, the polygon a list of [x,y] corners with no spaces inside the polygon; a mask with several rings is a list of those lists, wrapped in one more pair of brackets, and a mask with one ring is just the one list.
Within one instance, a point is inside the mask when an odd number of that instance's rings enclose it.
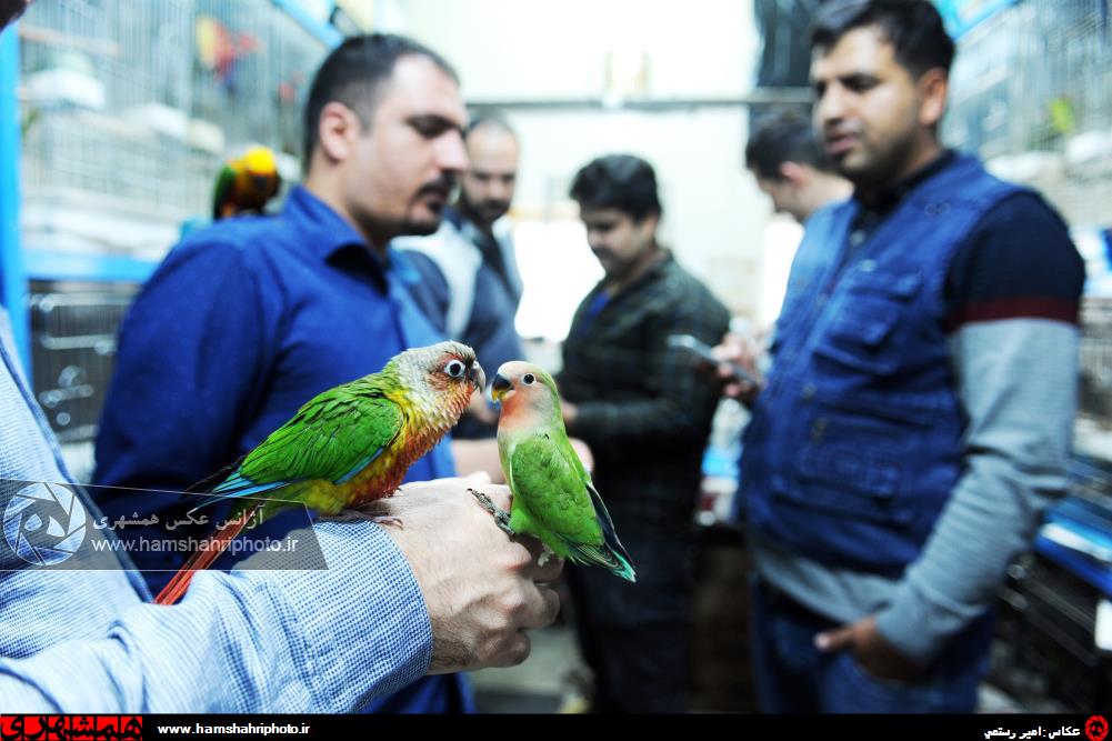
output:
{"label": "small green lovebird with peach face, perched nearest the knuckles", "polygon": [[528,363],[505,363],[490,396],[502,403],[498,457],[514,497],[507,513],[471,493],[509,535],[533,535],[573,563],[636,581],[610,514],[567,438],[553,377]]}

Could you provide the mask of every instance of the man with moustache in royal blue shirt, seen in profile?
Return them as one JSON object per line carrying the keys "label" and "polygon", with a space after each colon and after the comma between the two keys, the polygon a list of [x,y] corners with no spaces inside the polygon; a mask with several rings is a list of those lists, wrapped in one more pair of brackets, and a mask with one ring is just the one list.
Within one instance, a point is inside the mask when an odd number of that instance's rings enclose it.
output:
{"label": "man with moustache in royal blue shirt, seen in profile", "polygon": [[[101,419],[96,483],[183,490],[318,393],[440,339],[387,245],[435,231],[467,166],[455,73],[410,40],[351,38],[317,72],[305,121],[305,184],[281,213],[191,234],[136,299]],[[441,444],[407,481],[453,474]],[[115,520],[165,502],[119,490],[102,505]],[[284,526],[291,524],[269,532]],[[173,553],[140,555],[140,567],[180,565]],[[168,575],[147,574],[155,589]],[[379,708],[467,703],[461,679],[430,678]]]}

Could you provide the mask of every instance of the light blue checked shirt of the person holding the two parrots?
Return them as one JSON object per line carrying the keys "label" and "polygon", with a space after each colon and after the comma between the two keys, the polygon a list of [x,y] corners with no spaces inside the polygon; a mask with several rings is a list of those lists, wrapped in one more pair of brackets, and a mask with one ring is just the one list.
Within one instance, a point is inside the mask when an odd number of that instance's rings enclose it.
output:
{"label": "light blue checked shirt of the person holding the two parrots", "polygon": [[[19,482],[67,477],[4,324],[0,310],[0,495],[11,498]],[[0,540],[0,713],[345,712],[421,676],[431,626],[393,540],[369,522],[314,531],[327,570],[265,570],[277,556],[260,553],[241,571],[197,574],[170,607],[143,603],[111,551],[20,567]]]}

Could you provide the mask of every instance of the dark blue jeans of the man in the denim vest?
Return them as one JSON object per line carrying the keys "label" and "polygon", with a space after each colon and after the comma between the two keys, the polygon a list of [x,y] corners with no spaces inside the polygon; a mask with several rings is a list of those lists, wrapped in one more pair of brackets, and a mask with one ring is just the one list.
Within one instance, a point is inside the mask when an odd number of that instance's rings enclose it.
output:
{"label": "dark blue jeans of the man in the denim vest", "polygon": [[824,653],[815,635],[836,623],[759,579],[753,587],[757,703],[771,713],[970,713],[989,670],[994,614],[975,620],[942,650],[922,681],[868,674],[850,651]]}

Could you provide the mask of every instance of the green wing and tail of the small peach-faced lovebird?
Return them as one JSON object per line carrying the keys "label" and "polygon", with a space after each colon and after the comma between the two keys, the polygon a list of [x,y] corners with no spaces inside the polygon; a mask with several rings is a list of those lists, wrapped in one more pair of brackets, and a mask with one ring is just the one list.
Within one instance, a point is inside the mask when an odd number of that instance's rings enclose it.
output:
{"label": "green wing and tail of the small peach-faced lovebird", "polygon": [[555,536],[573,562],[603,566],[634,581],[633,561],[614,532],[610,513],[566,435],[530,435],[518,441],[508,457],[509,486],[546,531],[536,533],[542,540]]}

